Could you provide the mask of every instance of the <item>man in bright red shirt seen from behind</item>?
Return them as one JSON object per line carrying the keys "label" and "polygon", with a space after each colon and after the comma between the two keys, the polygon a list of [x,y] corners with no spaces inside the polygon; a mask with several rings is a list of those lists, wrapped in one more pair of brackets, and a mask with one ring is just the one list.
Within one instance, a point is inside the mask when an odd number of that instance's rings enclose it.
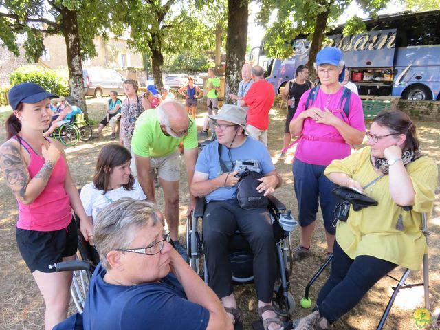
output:
{"label": "man in bright red shirt seen from behind", "polygon": [[254,83],[241,100],[241,107],[248,106],[248,122],[246,130],[251,137],[267,146],[267,129],[269,128],[269,111],[274,104],[274,87],[263,77],[263,68],[259,65],[252,67]]}

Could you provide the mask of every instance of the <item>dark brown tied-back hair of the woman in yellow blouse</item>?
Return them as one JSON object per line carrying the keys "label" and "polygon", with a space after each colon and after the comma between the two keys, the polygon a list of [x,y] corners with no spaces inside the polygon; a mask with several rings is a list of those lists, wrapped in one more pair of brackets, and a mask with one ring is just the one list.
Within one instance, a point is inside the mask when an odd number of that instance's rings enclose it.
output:
{"label": "dark brown tied-back hair of the woman in yellow blouse", "polygon": [[406,135],[404,150],[417,151],[419,149],[420,142],[417,138],[415,124],[406,113],[399,110],[381,111],[373,122],[379,126],[388,127],[391,133]]}

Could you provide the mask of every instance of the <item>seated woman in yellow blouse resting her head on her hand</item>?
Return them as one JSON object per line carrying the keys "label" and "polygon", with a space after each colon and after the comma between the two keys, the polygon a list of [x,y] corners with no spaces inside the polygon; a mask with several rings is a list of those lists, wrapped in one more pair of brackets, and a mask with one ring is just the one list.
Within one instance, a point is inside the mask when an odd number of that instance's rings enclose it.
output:
{"label": "seated woman in yellow blouse resting her head on her hand", "polygon": [[295,329],[328,329],[398,265],[421,268],[426,251],[421,213],[432,209],[437,166],[421,154],[415,125],[401,111],[380,113],[366,134],[369,146],[334,160],[324,174],[362,190],[378,205],[358,212],[351,207],[347,222],[338,221],[331,275],[315,311],[296,321]]}

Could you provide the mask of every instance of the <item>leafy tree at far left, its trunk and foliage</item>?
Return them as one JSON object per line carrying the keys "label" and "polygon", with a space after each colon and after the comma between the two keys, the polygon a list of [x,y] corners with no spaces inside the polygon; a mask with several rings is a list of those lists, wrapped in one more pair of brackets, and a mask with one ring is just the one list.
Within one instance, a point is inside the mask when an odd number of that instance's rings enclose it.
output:
{"label": "leafy tree at far left, its trunk and foliage", "polygon": [[[86,110],[81,58],[96,56],[94,38],[107,37],[113,0],[4,0],[0,12],[0,39],[10,52],[19,56],[18,36],[28,61],[38,61],[45,50],[44,37],[64,37],[71,94]],[[105,13],[105,14],[103,14]]]}

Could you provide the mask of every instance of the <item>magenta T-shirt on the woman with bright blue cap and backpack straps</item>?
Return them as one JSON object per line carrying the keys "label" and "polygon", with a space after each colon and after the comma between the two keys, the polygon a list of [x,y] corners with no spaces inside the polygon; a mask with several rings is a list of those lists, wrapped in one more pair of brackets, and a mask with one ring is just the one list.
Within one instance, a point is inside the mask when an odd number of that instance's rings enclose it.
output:
{"label": "magenta T-shirt on the woman with bright blue cap and backpack straps", "polygon": [[[325,107],[334,113],[338,118],[344,120],[342,115],[344,104],[341,104],[343,88],[341,87],[335,94],[325,94],[322,89],[318,89],[314,104],[309,106],[316,107],[325,111]],[[305,111],[305,101],[309,96],[309,91],[306,91],[300,98],[298,108],[296,109],[294,118],[298,118],[298,115]],[[347,122],[346,120],[344,120]],[[362,109],[362,102],[358,95],[351,93],[349,118],[348,122],[350,126],[358,129],[359,131],[365,131],[364,122],[364,110]],[[327,124],[317,124],[313,119],[306,118],[303,122],[303,135],[309,137],[316,137],[325,140],[342,140],[342,135],[333,126]],[[301,162],[314,165],[329,165],[333,159],[343,159],[350,155],[350,145],[344,142],[329,142],[319,140],[309,140],[301,138],[296,147],[295,157],[300,159]]]}

